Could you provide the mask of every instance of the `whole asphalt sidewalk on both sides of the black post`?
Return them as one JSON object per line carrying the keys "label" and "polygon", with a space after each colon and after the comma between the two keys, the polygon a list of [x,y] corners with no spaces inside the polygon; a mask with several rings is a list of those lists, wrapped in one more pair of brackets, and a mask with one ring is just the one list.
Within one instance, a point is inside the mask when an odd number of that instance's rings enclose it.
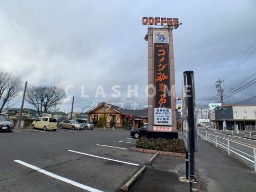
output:
{"label": "whole asphalt sidewalk on both sides of the black post", "polygon": [[[256,173],[241,160],[227,155],[200,137],[195,153],[198,191],[255,191]],[[185,158],[157,156],[130,191],[189,191],[185,177]]]}

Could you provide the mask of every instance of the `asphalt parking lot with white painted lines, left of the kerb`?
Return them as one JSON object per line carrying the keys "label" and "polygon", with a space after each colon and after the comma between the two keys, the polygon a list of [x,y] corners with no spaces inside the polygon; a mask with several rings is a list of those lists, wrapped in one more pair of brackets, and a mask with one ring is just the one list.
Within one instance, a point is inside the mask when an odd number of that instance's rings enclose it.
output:
{"label": "asphalt parking lot with white painted lines, left of the kerb", "polygon": [[120,191],[153,154],[129,131],[1,132],[0,191]]}

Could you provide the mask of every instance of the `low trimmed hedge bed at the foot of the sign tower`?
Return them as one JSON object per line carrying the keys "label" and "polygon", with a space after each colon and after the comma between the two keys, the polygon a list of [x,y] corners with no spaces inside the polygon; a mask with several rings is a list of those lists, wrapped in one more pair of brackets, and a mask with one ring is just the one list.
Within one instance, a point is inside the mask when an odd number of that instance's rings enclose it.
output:
{"label": "low trimmed hedge bed at the foot of the sign tower", "polygon": [[137,148],[145,148],[147,150],[186,153],[186,147],[183,139],[147,139],[145,136],[143,136],[136,141],[135,146]]}

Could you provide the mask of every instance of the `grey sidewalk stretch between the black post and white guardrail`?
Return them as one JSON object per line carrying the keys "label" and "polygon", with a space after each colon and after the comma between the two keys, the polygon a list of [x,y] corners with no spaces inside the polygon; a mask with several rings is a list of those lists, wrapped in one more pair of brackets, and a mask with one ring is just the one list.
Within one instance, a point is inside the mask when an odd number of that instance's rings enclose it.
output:
{"label": "grey sidewalk stretch between the black post and white guardrail", "polygon": [[253,168],[198,137],[197,180],[203,191],[255,191]]}

